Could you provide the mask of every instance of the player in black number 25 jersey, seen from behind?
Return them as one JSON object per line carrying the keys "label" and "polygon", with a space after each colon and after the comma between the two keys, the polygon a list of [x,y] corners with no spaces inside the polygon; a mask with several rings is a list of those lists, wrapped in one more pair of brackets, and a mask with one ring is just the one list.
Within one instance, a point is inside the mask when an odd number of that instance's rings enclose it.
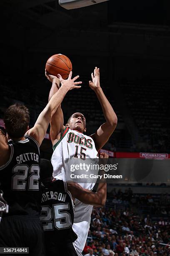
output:
{"label": "player in black number 25 jersey, seen from behind", "polygon": [[[106,155],[106,154],[105,154]],[[106,183],[99,184],[97,192],[83,189],[75,182],[65,182],[52,177],[53,167],[49,160],[41,159],[42,200],[40,220],[45,235],[46,255],[79,256],[74,248],[77,235],[72,230],[74,202],[78,200],[101,207],[106,201]]]}

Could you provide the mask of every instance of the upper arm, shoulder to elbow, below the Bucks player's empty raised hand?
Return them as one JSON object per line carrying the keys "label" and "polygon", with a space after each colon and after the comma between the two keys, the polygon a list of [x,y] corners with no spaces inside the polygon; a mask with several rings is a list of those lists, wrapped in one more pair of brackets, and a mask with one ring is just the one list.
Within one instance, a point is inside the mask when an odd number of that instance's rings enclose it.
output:
{"label": "upper arm, shoulder to elbow, below the Bucks player's empty raised hand", "polygon": [[115,131],[117,123],[115,125],[110,125],[108,123],[103,123],[98,130],[92,134],[90,137],[95,142],[96,150],[99,151],[102,146],[107,143],[112,133]]}

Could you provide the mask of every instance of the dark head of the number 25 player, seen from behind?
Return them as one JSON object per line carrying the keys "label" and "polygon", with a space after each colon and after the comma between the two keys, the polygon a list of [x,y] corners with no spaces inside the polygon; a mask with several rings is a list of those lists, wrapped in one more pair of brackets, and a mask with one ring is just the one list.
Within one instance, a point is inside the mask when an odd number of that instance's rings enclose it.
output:
{"label": "dark head of the number 25 player, seen from behind", "polygon": [[49,160],[40,159],[40,178],[46,179],[52,177],[53,167]]}

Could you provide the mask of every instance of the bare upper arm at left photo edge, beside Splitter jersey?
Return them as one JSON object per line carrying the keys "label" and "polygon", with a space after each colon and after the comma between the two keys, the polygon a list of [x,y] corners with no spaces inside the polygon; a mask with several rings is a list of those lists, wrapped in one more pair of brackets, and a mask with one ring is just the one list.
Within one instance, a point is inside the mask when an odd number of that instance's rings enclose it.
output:
{"label": "bare upper arm at left photo edge, beside Splitter jersey", "polygon": [[4,165],[10,158],[10,148],[5,133],[0,129],[0,166]]}

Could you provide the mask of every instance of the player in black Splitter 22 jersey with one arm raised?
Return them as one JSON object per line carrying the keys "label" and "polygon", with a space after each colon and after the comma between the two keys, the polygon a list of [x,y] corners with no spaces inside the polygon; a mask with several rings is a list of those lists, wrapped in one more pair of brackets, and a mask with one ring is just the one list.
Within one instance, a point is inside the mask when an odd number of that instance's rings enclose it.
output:
{"label": "player in black Splitter 22 jersey with one arm raised", "polygon": [[67,91],[79,83],[75,79],[68,80],[58,90],[30,130],[29,112],[24,105],[14,104],[5,113],[7,136],[0,130],[0,189],[5,200],[5,208],[1,209],[0,247],[29,247],[29,255],[44,255],[39,218],[42,195],[39,146],[52,114]]}

